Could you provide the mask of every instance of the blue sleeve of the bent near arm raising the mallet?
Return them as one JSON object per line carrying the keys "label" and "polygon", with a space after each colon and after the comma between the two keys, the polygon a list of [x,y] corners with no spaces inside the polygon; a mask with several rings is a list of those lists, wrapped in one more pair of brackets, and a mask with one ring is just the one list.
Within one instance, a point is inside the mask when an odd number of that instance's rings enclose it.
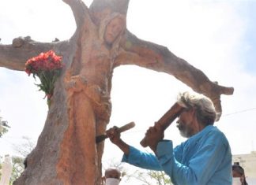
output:
{"label": "blue sleeve of the bent near arm raising the mallet", "polygon": [[159,142],[156,154],[164,172],[171,177],[173,183],[200,185],[209,182],[224,158],[225,150],[221,138],[206,142],[194,157],[191,157],[189,165],[183,165],[175,159],[171,141]]}

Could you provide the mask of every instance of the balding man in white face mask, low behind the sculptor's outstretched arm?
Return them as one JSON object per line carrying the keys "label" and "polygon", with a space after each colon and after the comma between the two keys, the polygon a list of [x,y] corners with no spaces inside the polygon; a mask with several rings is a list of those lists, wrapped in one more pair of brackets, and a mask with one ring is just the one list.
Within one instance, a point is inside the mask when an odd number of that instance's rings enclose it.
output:
{"label": "balding man in white face mask, low behind the sculptor's outstretched arm", "polygon": [[102,177],[104,185],[119,185],[121,181],[121,172],[119,168],[110,167],[105,171],[105,176]]}

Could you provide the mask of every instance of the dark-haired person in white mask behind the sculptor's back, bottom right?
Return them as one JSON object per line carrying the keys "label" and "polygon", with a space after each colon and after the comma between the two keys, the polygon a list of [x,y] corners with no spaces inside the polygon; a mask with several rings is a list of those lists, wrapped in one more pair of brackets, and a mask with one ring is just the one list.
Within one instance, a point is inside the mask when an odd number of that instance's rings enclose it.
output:
{"label": "dark-haired person in white mask behind the sculptor's back, bottom right", "polygon": [[232,165],[233,185],[248,185],[244,173],[244,169],[239,165],[239,162],[234,162]]}

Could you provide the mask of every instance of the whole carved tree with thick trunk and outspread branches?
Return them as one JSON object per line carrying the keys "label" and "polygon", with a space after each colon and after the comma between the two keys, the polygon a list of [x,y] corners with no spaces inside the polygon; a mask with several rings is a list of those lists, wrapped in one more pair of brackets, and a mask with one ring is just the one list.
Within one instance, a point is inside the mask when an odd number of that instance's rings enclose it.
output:
{"label": "whole carved tree with thick trunk and outspread branches", "polygon": [[35,150],[15,184],[100,184],[104,142],[96,145],[111,116],[111,78],[119,65],[167,72],[211,98],[221,113],[220,94],[233,88],[211,82],[203,72],[164,46],[137,39],[126,29],[129,0],[63,0],[73,10],[77,31],[68,41],[37,43],[27,38],[0,45],[0,67],[24,70],[24,63],[47,50],[62,56],[65,68]]}

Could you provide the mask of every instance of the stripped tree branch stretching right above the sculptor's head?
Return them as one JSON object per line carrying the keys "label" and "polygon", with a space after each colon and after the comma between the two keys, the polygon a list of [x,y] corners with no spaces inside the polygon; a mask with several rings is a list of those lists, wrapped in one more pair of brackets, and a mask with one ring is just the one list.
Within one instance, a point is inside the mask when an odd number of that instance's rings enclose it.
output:
{"label": "stripped tree branch stretching right above the sculptor's head", "polygon": [[216,111],[221,113],[220,94],[233,94],[233,87],[223,87],[213,83],[198,68],[190,65],[180,57],[176,57],[165,46],[149,43],[137,39],[135,35],[126,31],[121,41],[122,51],[116,58],[115,66],[139,65],[157,72],[166,72],[186,83],[194,91],[211,98]]}

